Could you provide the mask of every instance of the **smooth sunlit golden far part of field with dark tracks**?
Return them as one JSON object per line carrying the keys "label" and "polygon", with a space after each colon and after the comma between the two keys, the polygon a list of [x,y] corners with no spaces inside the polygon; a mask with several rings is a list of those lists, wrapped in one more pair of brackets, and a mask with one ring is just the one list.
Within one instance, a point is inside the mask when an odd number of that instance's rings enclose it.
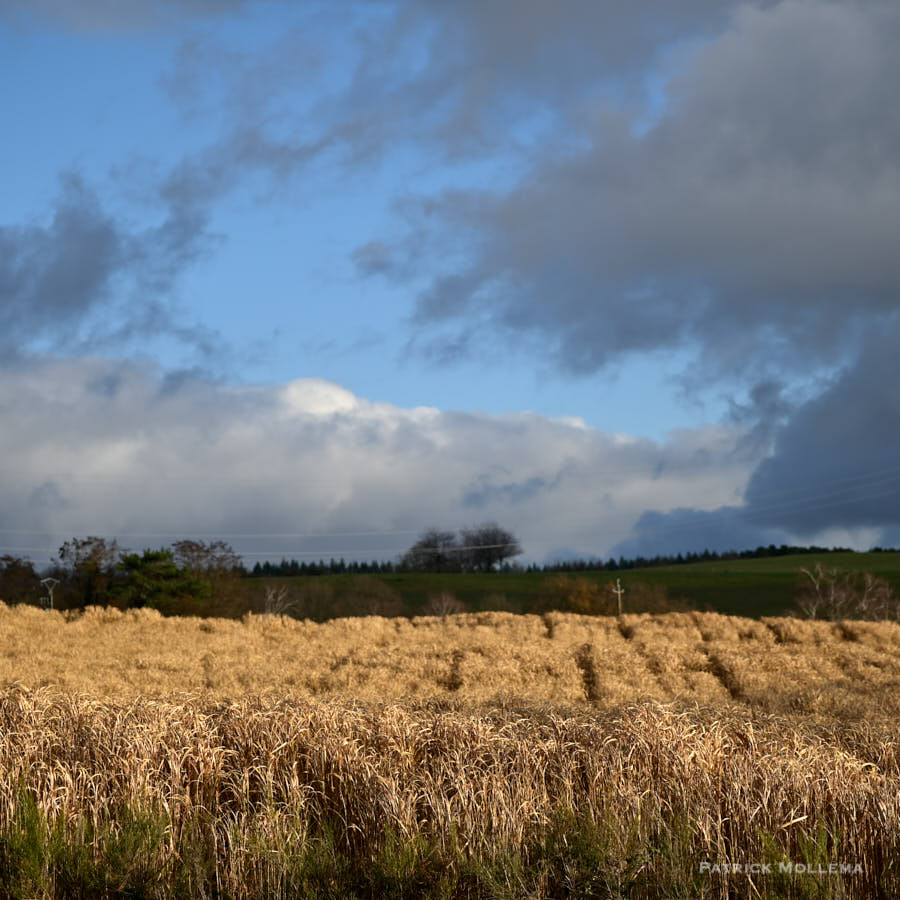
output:
{"label": "smooth sunlit golden far part of field with dark tracks", "polygon": [[900,625],[469,613],[418,619],[83,615],[0,605],[0,687],[97,697],[644,701],[900,718]]}

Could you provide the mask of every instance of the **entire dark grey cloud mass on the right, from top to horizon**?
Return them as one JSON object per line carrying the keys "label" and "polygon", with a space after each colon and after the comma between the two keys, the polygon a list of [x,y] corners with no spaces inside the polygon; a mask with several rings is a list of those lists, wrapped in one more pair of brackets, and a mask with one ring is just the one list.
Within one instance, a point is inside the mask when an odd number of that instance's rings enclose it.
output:
{"label": "entire dark grey cloud mass on the right, from top to horizon", "polygon": [[[689,388],[747,391],[731,417],[748,451],[774,455],[746,505],[648,512],[622,545],[632,552],[896,526],[900,7],[720,5],[703,22],[660,20],[654,43],[641,31],[653,17],[623,6],[617,57],[585,50],[591,12],[561,9],[550,24],[526,6],[489,58],[494,10],[475,6],[444,11],[410,88],[444,98],[444,137],[488,146],[491,123],[527,119],[517,96],[557,107],[512,187],[448,190],[418,215],[407,202],[410,243],[361,248],[362,274],[402,282],[414,269],[428,282],[412,346],[446,360],[530,338],[578,373],[683,348]],[[540,52],[532,26],[548,33]],[[547,65],[554,53],[568,64]],[[455,58],[470,65],[454,82]],[[635,62],[665,83],[657,108],[629,81]],[[422,252],[461,235],[462,264]]]}

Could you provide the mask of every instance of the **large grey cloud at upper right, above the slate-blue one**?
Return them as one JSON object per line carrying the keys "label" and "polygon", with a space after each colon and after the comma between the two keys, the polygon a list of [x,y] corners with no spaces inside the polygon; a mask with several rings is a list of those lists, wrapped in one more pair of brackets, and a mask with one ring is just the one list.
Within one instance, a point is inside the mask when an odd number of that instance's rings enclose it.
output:
{"label": "large grey cloud at upper right, above the slate-blue one", "polygon": [[[593,34],[587,14],[554,19],[550,44],[557,34],[572,68],[599,60],[593,112],[572,112],[533,147],[511,189],[423,199],[417,241],[423,230],[469,237],[462,262],[422,260],[417,274],[433,274],[421,327],[539,335],[572,372],[693,348],[708,381],[833,366],[852,358],[868,325],[897,313],[900,10],[783,0],[728,12],[724,24],[710,20],[711,35],[679,23],[678,35],[704,39],[655,58],[666,101],[646,129],[604,94],[603,55],[575,36]],[[477,43],[474,17],[446,15]],[[496,65],[550,72],[539,55],[507,58],[502,45]],[[426,82],[443,71],[435,66]],[[487,78],[487,109],[504,84]],[[540,105],[549,95],[535,91]],[[361,253],[369,270],[370,257]],[[382,248],[376,268],[391,271]]]}

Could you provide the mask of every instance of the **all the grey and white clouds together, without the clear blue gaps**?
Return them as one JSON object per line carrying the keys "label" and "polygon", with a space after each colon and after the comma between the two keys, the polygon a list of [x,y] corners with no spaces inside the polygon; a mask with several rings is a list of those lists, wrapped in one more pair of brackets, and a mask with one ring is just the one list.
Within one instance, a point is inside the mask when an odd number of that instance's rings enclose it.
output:
{"label": "all the grey and white clouds together, without the clear blue gaps", "polygon": [[[65,27],[142,28],[251,4],[27,6]],[[0,17],[25,7],[0,0]],[[185,41],[164,87],[218,137],[146,188],[154,224],[69,173],[44,220],[0,225],[0,433],[22,475],[0,479],[0,524],[376,531],[383,555],[425,525],[496,518],[534,558],[897,533],[894,2],[335,9],[304,5],[264,52]],[[688,351],[692,387],[747,392],[730,424],[631,441],[84,358],[160,335],[211,355],[215,333],[173,297],[215,244],[217,203],[326,157],[368,171],[410,150],[425,183],[457,186],[398,198],[407,233],[383,229],[352,258],[418,291],[411,348],[453,363],[515,344],[583,374]],[[72,358],[26,361],[38,353]],[[358,549],[334,540],[316,546]]]}

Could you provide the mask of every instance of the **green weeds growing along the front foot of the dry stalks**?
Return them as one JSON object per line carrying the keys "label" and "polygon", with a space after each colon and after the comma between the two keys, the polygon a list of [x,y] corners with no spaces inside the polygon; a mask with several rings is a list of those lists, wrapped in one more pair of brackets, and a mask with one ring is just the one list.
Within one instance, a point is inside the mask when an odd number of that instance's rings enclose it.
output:
{"label": "green weeds growing along the front foot of the dry stalks", "polygon": [[[651,805],[652,806],[652,805]],[[0,826],[0,895],[26,898],[646,898],[881,896],[871,882],[827,876],[747,879],[701,872],[690,817],[648,806],[639,819],[594,820],[560,808],[521,846],[471,852],[452,835],[390,832],[360,845],[339,823],[309,832],[254,836],[198,813],[173,821],[161,811],[123,807],[116,820],[49,821],[23,794]],[[248,828],[249,825],[249,828]],[[821,830],[820,830],[821,831]],[[790,859],[764,836],[766,859]],[[803,860],[828,861],[821,835]],[[692,849],[692,845],[693,849]],[[889,880],[897,886],[896,867]],[[885,887],[887,885],[885,884]],[[887,896],[887,895],[885,895]]]}

